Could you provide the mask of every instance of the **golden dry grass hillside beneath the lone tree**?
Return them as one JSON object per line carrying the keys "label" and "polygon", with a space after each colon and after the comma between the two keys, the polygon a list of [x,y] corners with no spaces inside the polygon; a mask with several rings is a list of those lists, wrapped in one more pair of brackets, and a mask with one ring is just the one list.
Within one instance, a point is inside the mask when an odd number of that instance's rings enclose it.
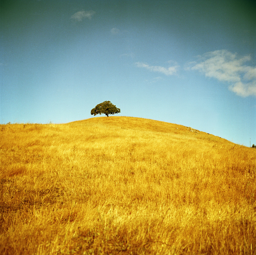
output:
{"label": "golden dry grass hillside beneath the lone tree", "polygon": [[256,149],[132,117],[0,125],[0,254],[256,254]]}

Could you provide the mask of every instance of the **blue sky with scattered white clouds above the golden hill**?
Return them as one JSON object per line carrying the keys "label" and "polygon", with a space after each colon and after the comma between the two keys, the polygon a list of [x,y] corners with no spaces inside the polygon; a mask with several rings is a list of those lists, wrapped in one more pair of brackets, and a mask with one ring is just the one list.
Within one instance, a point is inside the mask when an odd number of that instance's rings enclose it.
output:
{"label": "blue sky with scattered white clouds above the golden hill", "polygon": [[87,119],[109,100],[117,116],[256,144],[255,13],[253,0],[1,0],[0,122]]}

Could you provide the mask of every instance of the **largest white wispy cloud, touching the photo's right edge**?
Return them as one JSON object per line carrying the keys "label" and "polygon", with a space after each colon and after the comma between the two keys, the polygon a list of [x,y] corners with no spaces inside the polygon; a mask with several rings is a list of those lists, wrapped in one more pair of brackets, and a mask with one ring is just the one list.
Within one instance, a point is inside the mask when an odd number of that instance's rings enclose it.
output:
{"label": "largest white wispy cloud, touching the photo's right edge", "polygon": [[256,67],[246,65],[251,56],[239,57],[228,50],[215,50],[189,62],[186,70],[197,70],[206,77],[229,83],[229,89],[239,96],[256,96]]}

